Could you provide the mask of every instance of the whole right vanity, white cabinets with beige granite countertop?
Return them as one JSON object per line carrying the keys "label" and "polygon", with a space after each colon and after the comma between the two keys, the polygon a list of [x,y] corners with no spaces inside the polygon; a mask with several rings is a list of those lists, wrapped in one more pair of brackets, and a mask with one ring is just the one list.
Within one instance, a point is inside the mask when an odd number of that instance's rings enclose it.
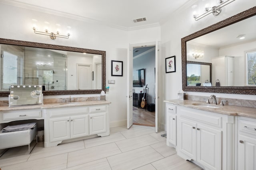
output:
{"label": "whole right vanity, white cabinets with beige granite countertop", "polygon": [[256,169],[256,108],[166,102],[167,141],[206,170]]}

